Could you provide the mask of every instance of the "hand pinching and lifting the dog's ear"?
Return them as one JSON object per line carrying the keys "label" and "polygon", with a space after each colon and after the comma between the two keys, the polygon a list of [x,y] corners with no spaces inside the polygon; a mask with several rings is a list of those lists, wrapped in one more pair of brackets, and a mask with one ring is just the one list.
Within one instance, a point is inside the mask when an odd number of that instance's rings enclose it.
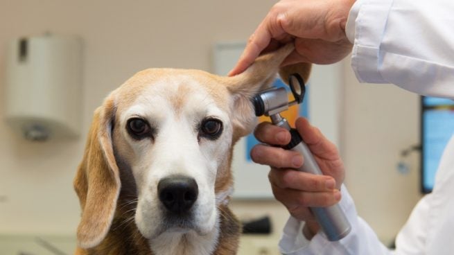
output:
{"label": "hand pinching and lifting the dog's ear", "polygon": [[251,35],[229,76],[242,73],[262,52],[295,43],[282,66],[298,62],[332,64],[351,51],[345,25],[355,0],[281,0]]}

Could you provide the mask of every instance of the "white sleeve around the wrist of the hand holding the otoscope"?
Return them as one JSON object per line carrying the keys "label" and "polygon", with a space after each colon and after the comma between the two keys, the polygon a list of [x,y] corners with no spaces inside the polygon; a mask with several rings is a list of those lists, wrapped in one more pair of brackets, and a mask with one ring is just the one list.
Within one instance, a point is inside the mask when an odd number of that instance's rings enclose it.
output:
{"label": "white sleeve around the wrist of the hand holding the otoscope", "polygon": [[320,231],[310,241],[302,234],[304,222],[290,217],[283,229],[279,249],[286,255],[353,255],[392,254],[377,238],[367,223],[358,217],[347,188],[342,186],[340,207],[351,224],[351,232],[339,241],[331,242]]}

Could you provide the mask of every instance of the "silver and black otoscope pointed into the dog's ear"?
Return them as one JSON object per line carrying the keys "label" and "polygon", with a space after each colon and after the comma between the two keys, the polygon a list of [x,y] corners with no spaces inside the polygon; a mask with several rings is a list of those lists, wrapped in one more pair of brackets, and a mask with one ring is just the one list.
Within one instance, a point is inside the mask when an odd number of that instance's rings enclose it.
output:
{"label": "silver and black otoscope pointed into the dog's ear", "polygon": [[[266,89],[252,98],[255,114],[256,116],[269,116],[273,125],[286,128],[286,130],[290,131],[292,139],[288,145],[282,148],[297,151],[304,157],[303,166],[297,170],[315,175],[323,175],[322,170],[320,170],[302,137],[297,130],[290,128],[286,118],[283,118],[280,114],[286,111],[288,107],[302,103],[304,94],[306,93],[304,80],[298,73],[290,74],[288,84],[295,100],[288,102],[288,94],[283,87]],[[328,207],[311,207],[310,209],[328,240],[337,241],[349,234],[351,226],[339,204]]]}

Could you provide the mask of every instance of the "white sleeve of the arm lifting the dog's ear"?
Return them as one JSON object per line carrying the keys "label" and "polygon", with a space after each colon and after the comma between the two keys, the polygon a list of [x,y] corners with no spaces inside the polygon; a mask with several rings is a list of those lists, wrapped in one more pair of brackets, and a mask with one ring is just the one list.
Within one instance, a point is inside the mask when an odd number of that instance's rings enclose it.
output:
{"label": "white sleeve of the arm lifting the dog's ear", "polygon": [[454,98],[453,12],[453,0],[357,0],[346,33],[358,80]]}

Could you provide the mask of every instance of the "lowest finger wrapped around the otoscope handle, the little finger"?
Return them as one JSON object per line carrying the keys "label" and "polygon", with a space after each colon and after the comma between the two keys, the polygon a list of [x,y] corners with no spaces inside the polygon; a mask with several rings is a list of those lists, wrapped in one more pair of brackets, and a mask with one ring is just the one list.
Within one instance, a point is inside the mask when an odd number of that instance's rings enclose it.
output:
{"label": "lowest finger wrapped around the otoscope handle, the little finger", "polygon": [[304,192],[292,189],[283,189],[273,186],[274,197],[284,204],[288,209],[297,207],[326,207],[336,204],[340,200],[340,191],[335,189],[326,192]]}

